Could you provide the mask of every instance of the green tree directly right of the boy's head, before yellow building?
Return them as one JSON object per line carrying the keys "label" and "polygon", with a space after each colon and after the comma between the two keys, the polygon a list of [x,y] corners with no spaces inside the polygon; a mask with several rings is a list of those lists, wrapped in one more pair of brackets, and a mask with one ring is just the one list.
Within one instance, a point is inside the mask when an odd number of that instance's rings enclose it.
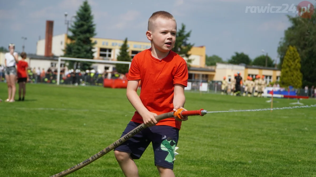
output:
{"label": "green tree directly right of the boy's head, before yellow building", "polygon": [[189,37],[191,36],[191,32],[186,32],[185,31],[185,25],[182,23],[181,28],[177,32],[177,38],[176,42],[174,44],[174,47],[172,49],[173,52],[179,54],[181,57],[185,57],[186,64],[188,66],[188,69],[190,69],[190,65],[192,62],[192,59],[190,59],[190,50],[194,46],[194,44],[191,44],[188,42]]}

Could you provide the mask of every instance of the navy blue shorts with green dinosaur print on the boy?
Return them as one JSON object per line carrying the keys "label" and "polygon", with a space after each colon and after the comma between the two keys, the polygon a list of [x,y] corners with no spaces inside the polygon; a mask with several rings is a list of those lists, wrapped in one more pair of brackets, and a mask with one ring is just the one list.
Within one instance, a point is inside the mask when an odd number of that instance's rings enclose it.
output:
{"label": "navy blue shorts with green dinosaur print on the boy", "polygon": [[[128,123],[122,136],[136,128],[138,125],[140,125],[140,123],[132,121]],[[151,142],[155,155],[155,165],[173,169],[173,159],[178,139],[178,128],[167,125],[154,125],[135,134],[121,146],[115,148],[114,151],[131,153],[132,159],[140,159]]]}

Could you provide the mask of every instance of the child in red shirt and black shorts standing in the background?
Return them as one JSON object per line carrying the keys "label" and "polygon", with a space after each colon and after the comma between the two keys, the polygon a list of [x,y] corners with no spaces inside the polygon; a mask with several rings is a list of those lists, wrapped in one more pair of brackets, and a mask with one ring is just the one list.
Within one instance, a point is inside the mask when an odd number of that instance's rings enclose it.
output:
{"label": "child in red shirt and black shorts standing in the background", "polygon": [[[18,60],[17,63],[17,75],[18,75],[18,83],[19,83],[19,101],[24,101],[25,93],[26,93],[26,83],[28,82],[28,73],[27,73],[27,61],[26,53],[21,53],[22,60]],[[23,89],[23,98],[21,99],[21,91]]]}

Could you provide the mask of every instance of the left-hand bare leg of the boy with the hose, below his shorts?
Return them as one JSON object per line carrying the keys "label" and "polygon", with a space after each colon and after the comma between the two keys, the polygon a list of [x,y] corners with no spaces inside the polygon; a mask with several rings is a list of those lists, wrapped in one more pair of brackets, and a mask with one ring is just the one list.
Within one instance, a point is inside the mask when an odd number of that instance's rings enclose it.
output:
{"label": "left-hand bare leg of the boy with the hose, below his shorts", "polygon": [[114,151],[114,155],[126,177],[138,177],[138,169],[130,153]]}

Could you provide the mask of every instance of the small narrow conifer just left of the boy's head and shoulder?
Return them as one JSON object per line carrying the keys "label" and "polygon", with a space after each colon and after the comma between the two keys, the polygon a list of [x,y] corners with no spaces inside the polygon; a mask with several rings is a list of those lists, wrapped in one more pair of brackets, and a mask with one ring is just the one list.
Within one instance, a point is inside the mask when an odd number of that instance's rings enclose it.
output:
{"label": "small narrow conifer just left of the boy's head and shoulder", "polygon": [[[117,58],[118,61],[131,61],[131,56],[127,50],[128,50],[127,38],[125,38],[125,41],[123,45],[121,46],[121,49]],[[125,74],[128,72],[127,64],[116,63],[115,66],[116,66],[116,71],[118,71],[119,73]]]}

